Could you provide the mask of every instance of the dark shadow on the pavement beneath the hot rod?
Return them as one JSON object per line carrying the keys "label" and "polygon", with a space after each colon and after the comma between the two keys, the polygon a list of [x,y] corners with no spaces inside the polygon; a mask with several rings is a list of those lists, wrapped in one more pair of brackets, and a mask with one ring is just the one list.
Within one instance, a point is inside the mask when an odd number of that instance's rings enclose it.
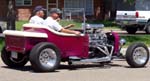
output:
{"label": "dark shadow on the pavement beneath the hot rod", "polygon": [[[76,65],[75,64],[73,64],[73,65],[61,64],[55,72],[60,72],[60,70],[76,71],[76,70],[84,70],[84,69],[86,69],[86,70],[110,69],[112,67],[130,68],[129,66],[113,64],[113,63],[107,63],[107,64],[92,63],[92,64],[76,64]],[[38,73],[38,72],[34,72],[30,65],[27,65],[24,67],[19,67],[19,68],[10,68],[8,66],[1,66],[1,68]],[[45,72],[45,73],[47,73],[47,72]],[[50,73],[53,73],[53,72],[50,72]]]}

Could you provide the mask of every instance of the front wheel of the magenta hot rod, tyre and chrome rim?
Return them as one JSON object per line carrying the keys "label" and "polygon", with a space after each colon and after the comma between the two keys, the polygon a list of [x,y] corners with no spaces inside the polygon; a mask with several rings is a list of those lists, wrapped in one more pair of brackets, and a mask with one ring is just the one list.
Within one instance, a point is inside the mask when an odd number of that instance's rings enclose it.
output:
{"label": "front wheel of the magenta hot rod, tyre and chrome rim", "polygon": [[143,43],[134,43],[126,51],[126,61],[133,68],[144,67],[149,60],[149,50]]}

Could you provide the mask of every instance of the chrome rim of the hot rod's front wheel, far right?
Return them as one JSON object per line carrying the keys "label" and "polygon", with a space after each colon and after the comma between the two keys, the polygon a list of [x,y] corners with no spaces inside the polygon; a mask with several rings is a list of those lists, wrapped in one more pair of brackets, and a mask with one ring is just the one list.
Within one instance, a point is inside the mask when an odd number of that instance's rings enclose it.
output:
{"label": "chrome rim of the hot rod's front wheel, far right", "polygon": [[133,52],[133,60],[137,64],[144,64],[147,60],[148,54],[147,50],[143,47],[138,47]]}

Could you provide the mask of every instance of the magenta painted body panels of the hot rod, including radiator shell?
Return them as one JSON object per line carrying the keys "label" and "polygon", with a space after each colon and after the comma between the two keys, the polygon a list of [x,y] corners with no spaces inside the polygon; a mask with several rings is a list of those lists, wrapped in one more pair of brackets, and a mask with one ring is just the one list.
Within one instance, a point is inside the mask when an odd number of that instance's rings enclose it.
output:
{"label": "magenta painted body panels of the hot rod, including radiator shell", "polygon": [[[10,51],[16,51],[25,54],[32,50],[32,48],[39,42],[50,42],[53,43],[61,51],[62,58],[68,58],[69,56],[77,56],[80,58],[88,58],[89,52],[89,37],[88,35],[83,36],[62,36],[57,35],[46,28],[42,27],[31,27],[24,26],[23,31],[25,32],[39,32],[47,34],[47,38],[38,37],[24,37],[24,36],[12,36],[6,35],[6,49]],[[119,35],[112,32],[115,38],[114,41],[114,52],[118,54],[119,51]],[[10,41],[11,40],[11,41]]]}

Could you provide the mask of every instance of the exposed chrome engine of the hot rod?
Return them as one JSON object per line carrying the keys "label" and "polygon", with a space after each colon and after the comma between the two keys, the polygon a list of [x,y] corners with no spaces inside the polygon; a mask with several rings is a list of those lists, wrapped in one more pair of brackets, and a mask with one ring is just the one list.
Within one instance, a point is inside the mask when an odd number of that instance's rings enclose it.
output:
{"label": "exposed chrome engine of the hot rod", "polygon": [[89,35],[89,57],[111,57],[114,50],[114,40],[111,33],[105,33],[101,28],[90,28]]}

